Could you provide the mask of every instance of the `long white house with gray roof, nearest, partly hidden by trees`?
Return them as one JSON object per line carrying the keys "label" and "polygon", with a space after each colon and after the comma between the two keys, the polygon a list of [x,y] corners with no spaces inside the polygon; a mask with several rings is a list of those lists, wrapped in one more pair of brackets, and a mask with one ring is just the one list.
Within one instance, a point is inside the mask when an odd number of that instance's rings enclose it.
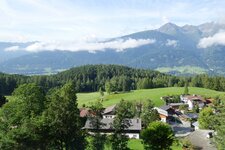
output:
{"label": "long white house with gray roof, nearest, partly hidden by trees", "polygon": [[[98,131],[102,134],[112,134],[114,132],[113,128],[113,118],[103,118],[101,120],[101,124],[103,124]],[[124,129],[124,134],[127,135],[129,138],[140,138],[141,132],[141,119],[127,119],[129,122],[129,127]],[[96,132],[96,129],[92,126],[91,121],[87,120],[83,129],[87,129],[90,133]]]}

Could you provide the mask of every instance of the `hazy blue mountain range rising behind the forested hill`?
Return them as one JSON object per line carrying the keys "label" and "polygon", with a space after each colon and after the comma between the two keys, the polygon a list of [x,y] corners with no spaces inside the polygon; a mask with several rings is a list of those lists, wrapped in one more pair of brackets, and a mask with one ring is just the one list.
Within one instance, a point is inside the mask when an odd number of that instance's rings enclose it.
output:
{"label": "hazy blue mountain range rising behind the forested hill", "polygon": [[[0,42],[0,72],[50,74],[85,64],[121,64],[175,75],[225,75],[225,42],[220,39],[223,30],[225,24],[214,22],[198,26],[167,23],[155,30],[101,41],[101,45],[110,46],[94,51],[44,47],[29,52],[26,47],[37,42]],[[16,50],[18,47],[21,50]]]}

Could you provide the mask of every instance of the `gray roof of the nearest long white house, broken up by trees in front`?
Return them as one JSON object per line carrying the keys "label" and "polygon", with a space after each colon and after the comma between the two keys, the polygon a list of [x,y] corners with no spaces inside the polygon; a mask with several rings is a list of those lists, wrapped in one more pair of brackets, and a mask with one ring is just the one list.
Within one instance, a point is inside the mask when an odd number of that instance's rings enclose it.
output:
{"label": "gray roof of the nearest long white house, broken up by trees in front", "polygon": [[[101,120],[101,123],[103,124],[103,126],[101,127],[101,129],[113,129],[113,120],[111,118],[103,118]],[[136,118],[136,119],[128,119],[130,126],[129,128],[125,129],[125,130],[141,130],[141,119]],[[88,119],[85,123],[84,129],[94,129],[90,123],[90,120]]]}

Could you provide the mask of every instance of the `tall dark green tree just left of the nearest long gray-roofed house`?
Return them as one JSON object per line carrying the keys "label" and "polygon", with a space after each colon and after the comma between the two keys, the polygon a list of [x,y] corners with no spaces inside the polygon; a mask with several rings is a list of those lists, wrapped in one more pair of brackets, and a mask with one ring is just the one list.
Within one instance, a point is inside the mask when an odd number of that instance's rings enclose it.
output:
{"label": "tall dark green tree just left of the nearest long gray-roofed house", "polygon": [[52,141],[56,149],[82,150],[85,148],[76,90],[72,82],[65,84],[52,94],[45,118],[50,130],[49,136],[53,137]]}

